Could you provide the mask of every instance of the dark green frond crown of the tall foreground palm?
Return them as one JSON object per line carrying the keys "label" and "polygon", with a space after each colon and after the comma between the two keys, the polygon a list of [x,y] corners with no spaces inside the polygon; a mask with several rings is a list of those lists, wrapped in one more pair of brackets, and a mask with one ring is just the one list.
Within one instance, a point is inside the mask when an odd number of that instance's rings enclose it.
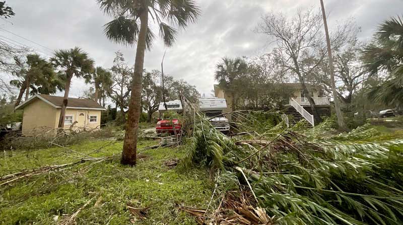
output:
{"label": "dark green frond crown of the tall foreground palm", "polygon": [[[115,17],[105,24],[104,33],[112,41],[124,45],[134,45],[140,33],[140,14],[147,10],[159,28],[159,35],[166,47],[175,42],[178,29],[184,29],[194,23],[200,15],[200,9],[192,0],[146,1],[133,4],[121,0],[97,0],[105,14]],[[146,9],[147,8],[147,9]],[[167,24],[164,21],[168,21]],[[172,27],[177,26],[177,28]],[[156,35],[149,26],[146,48],[151,49]]]}

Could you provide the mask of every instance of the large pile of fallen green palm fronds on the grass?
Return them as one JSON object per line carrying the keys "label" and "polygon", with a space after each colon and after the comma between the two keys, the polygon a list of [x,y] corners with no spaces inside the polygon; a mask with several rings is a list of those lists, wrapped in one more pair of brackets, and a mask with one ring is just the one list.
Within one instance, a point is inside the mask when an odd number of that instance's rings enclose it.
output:
{"label": "large pile of fallen green palm fronds on the grass", "polygon": [[218,202],[250,191],[267,224],[402,224],[403,139],[377,141],[369,125],[324,135],[332,121],[228,137],[200,117],[181,166],[217,172]]}

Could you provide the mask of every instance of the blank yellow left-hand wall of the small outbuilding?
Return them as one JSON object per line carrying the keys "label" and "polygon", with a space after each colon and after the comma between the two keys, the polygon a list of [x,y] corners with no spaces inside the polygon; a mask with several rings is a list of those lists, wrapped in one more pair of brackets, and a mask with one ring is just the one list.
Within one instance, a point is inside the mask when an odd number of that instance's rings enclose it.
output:
{"label": "blank yellow left-hand wall of the small outbuilding", "polygon": [[24,108],[22,133],[30,136],[53,129],[55,112],[54,107],[35,99]]}

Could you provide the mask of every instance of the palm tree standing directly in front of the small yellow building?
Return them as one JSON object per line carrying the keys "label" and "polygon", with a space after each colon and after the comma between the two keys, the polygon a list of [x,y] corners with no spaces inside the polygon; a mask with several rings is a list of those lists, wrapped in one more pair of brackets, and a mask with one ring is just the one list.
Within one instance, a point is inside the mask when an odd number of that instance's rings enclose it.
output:
{"label": "palm tree standing directly in front of the small yellow building", "polygon": [[71,49],[56,50],[54,56],[50,58],[55,68],[64,71],[65,73],[65,86],[63,104],[60,109],[60,117],[58,128],[64,127],[64,114],[68,104],[70,85],[72,78],[89,76],[94,71],[94,60],[92,60],[86,52],[81,48],[75,47]]}

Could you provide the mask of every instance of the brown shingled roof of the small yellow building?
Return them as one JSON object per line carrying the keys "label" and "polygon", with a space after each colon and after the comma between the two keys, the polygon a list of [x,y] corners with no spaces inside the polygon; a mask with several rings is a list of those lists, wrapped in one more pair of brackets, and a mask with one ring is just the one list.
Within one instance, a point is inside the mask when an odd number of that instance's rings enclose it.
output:
{"label": "brown shingled roof of the small yellow building", "polygon": [[[28,99],[27,101],[21,103],[16,107],[16,109],[23,109],[26,105],[31,103],[34,99],[42,100],[55,108],[61,108],[63,104],[63,97],[52,96],[52,95],[35,95]],[[96,101],[88,99],[76,99],[69,98],[67,102],[68,109],[95,109],[95,110],[105,110]]]}

